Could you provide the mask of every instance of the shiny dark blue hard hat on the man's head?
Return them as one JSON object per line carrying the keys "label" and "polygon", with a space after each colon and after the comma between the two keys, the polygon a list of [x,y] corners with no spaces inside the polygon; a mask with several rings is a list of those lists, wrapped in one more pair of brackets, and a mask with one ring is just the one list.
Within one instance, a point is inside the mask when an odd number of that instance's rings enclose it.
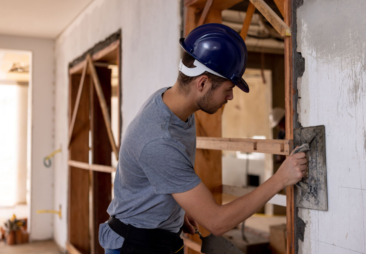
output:
{"label": "shiny dark blue hard hat on the man's head", "polygon": [[186,38],[180,38],[179,43],[194,59],[249,93],[242,78],[248,52],[236,31],[223,24],[209,23],[193,29]]}

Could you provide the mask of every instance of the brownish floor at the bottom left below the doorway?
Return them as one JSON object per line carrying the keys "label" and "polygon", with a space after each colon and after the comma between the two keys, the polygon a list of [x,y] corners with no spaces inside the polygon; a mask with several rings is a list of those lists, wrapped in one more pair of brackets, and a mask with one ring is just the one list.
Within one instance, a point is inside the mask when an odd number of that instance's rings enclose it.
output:
{"label": "brownish floor at the bottom left below the doorway", "polygon": [[61,254],[53,240],[6,245],[0,242],[0,254]]}

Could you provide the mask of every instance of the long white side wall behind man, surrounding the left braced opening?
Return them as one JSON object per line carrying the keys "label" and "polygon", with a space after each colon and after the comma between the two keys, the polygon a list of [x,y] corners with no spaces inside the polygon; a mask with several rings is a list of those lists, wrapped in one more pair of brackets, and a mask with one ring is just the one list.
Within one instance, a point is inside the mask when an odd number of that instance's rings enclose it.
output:
{"label": "long white side wall behind man, surrounding the left braced opening", "polygon": [[[99,41],[122,29],[123,131],[143,102],[161,87],[171,86],[180,59],[180,0],[95,0],[56,39],[55,145],[68,141],[68,64]],[[68,153],[55,157],[54,238],[67,240]],[[87,230],[87,229],[86,229]]]}

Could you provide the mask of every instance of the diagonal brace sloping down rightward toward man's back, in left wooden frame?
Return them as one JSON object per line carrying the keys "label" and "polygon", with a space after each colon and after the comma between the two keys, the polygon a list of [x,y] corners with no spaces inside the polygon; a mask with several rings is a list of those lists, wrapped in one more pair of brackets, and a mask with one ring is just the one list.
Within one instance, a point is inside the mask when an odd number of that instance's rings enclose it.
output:
{"label": "diagonal brace sloping down rightward toward man's back, in left wooden frame", "polygon": [[109,142],[111,143],[112,150],[115,153],[116,160],[118,160],[118,150],[117,150],[117,147],[116,147],[115,139],[113,137],[113,132],[112,132],[112,128],[111,128],[111,117],[109,116],[109,113],[108,113],[107,102],[105,101],[105,97],[104,97],[104,94],[103,94],[103,91],[102,91],[102,88],[101,88],[101,85],[100,85],[100,81],[99,81],[99,78],[98,78],[98,75],[97,75],[97,71],[94,67],[93,61],[91,61],[91,57],[90,57],[89,54],[86,56],[86,59],[89,63],[89,69],[91,71],[91,77],[93,78],[94,87],[96,89],[98,99],[99,99],[99,103],[100,103],[100,107],[102,109],[105,127],[107,128],[107,132],[108,132]]}

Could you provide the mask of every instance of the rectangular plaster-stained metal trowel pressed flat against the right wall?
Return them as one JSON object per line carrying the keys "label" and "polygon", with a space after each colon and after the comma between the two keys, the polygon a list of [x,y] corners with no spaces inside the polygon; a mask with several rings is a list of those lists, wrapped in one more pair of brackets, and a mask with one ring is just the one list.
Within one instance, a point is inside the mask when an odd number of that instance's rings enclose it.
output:
{"label": "rectangular plaster-stained metal trowel pressed flat against the right wall", "polygon": [[328,210],[324,125],[294,129],[293,154],[304,152],[309,171],[294,185],[296,207]]}

